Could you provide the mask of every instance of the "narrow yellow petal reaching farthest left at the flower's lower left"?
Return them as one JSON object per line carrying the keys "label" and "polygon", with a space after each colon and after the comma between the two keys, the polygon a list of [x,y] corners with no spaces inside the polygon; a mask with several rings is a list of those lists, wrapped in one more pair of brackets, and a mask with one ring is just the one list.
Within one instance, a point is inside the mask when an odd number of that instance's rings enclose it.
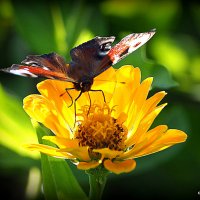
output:
{"label": "narrow yellow petal reaching farthest left at the flower's lower left", "polygon": [[43,144],[27,144],[24,145],[27,149],[31,151],[40,151],[41,153],[47,154],[49,156],[57,157],[57,158],[65,158],[65,159],[74,159],[72,155],[66,152],[58,152],[57,148],[43,145]]}

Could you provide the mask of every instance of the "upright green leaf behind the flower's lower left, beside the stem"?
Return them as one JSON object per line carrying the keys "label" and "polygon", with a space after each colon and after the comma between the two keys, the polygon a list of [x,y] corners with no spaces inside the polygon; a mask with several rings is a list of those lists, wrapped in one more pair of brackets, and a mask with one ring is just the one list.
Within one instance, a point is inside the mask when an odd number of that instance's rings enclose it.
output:
{"label": "upright green leaf behind the flower's lower left, beside the stem", "polygon": [[[36,122],[34,122],[34,126],[39,143],[52,146],[52,143],[42,140],[42,137],[49,135],[50,131]],[[43,187],[47,200],[87,199],[66,161],[41,154],[41,162]]]}

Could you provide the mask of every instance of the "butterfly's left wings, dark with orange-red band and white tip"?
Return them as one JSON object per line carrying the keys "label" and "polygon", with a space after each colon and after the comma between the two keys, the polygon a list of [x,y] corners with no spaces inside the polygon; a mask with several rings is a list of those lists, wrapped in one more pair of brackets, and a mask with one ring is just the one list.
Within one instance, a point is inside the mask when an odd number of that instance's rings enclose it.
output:
{"label": "butterfly's left wings, dark with orange-red band and white tip", "polygon": [[44,77],[73,82],[73,79],[67,76],[68,67],[61,56],[50,53],[27,56],[21,65],[13,64],[10,68],[1,71],[33,78]]}

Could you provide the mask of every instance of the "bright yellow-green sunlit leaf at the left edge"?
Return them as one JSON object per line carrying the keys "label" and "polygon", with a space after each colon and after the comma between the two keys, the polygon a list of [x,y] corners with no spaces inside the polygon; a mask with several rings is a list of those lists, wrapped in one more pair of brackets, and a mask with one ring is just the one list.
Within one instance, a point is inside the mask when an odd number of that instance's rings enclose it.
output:
{"label": "bright yellow-green sunlit leaf at the left edge", "polygon": [[14,96],[6,94],[1,86],[0,119],[0,144],[22,156],[38,158],[38,153],[23,147],[24,144],[37,143],[37,137],[22,103]]}

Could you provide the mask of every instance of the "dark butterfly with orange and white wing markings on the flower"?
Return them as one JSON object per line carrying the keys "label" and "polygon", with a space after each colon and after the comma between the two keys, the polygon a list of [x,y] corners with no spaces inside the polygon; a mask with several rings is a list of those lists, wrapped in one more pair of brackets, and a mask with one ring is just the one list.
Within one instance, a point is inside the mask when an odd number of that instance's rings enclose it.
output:
{"label": "dark butterfly with orange and white wing markings on the flower", "polygon": [[[94,91],[91,89],[94,78],[118,63],[130,53],[145,44],[154,34],[155,29],[144,33],[132,33],[114,45],[115,37],[95,38],[73,48],[70,51],[71,61],[66,64],[63,57],[57,53],[29,55],[21,64],[13,64],[1,71],[27,77],[44,77],[73,83],[73,88],[80,91],[75,101],[82,93]],[[101,91],[103,96],[104,93]],[[70,94],[68,93],[70,96]],[[72,103],[73,99],[70,96]],[[105,101],[105,96],[104,96]]]}

